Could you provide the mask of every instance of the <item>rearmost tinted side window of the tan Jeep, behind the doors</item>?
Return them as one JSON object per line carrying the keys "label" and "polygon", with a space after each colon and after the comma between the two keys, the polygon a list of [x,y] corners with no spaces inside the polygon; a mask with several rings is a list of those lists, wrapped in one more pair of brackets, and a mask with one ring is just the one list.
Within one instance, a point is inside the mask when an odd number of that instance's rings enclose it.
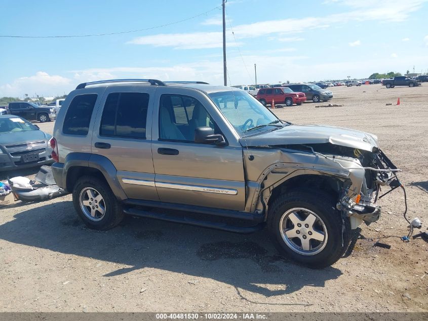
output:
{"label": "rearmost tinted side window of the tan Jeep, behind the doors", "polygon": [[65,114],[62,132],[71,135],[87,135],[97,94],[75,96]]}

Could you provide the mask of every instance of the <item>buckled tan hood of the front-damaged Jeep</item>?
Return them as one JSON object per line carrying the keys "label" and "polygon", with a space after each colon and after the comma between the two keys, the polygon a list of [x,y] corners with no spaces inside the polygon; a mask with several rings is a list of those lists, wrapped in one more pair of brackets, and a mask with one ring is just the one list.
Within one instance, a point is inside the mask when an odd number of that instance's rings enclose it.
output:
{"label": "buckled tan hood of the front-damaged Jeep", "polygon": [[275,146],[295,144],[325,144],[358,148],[373,151],[377,146],[377,137],[359,130],[320,126],[320,125],[289,125],[283,128],[267,131],[258,135],[240,138],[242,146]]}

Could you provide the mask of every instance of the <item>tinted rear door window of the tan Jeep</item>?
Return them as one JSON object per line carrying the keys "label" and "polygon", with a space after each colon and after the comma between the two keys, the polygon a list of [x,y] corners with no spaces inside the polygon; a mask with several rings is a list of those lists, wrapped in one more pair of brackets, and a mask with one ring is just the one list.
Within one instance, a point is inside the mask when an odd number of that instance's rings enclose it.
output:
{"label": "tinted rear door window of the tan Jeep", "polygon": [[101,118],[100,135],[146,138],[149,95],[115,92],[107,96]]}

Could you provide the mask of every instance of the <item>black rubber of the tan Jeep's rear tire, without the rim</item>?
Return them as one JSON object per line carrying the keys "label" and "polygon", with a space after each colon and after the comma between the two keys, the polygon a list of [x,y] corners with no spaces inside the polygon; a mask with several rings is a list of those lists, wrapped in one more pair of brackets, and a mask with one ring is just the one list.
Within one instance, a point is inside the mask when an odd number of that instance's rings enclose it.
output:
{"label": "black rubber of the tan Jeep's rear tire, without the rim", "polygon": [[[81,206],[81,193],[86,189],[94,189],[101,195],[104,203],[104,216],[99,221],[89,219]],[[118,202],[108,184],[94,176],[82,176],[74,185],[73,188],[73,205],[77,215],[91,229],[108,230],[123,220],[125,214],[121,203]]]}

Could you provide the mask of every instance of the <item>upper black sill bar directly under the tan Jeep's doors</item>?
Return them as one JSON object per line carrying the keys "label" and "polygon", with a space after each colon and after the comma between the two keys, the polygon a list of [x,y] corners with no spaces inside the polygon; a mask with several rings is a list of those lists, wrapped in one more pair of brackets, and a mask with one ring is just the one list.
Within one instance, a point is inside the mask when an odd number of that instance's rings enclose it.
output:
{"label": "upper black sill bar directly under the tan Jeep's doors", "polygon": [[259,213],[241,212],[239,210],[218,209],[218,208],[212,208],[212,207],[166,203],[166,202],[157,202],[157,201],[146,201],[146,200],[131,199],[131,198],[123,200],[122,202],[125,205],[182,210],[182,211],[193,212],[193,213],[220,216],[220,217],[225,217],[229,219],[245,220],[245,221],[250,221],[254,223],[261,223],[264,221],[264,215],[261,215]]}

